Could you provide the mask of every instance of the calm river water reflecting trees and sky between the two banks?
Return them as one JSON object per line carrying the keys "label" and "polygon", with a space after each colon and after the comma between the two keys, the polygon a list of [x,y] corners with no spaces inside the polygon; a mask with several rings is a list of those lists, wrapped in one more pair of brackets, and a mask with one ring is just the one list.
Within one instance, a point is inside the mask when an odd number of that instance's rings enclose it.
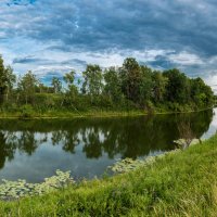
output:
{"label": "calm river water reflecting trees and sky between the two banks", "polygon": [[192,123],[197,138],[217,129],[217,110],[152,117],[72,120],[0,120],[0,179],[39,182],[56,169],[76,179],[101,176],[118,158],[175,149],[178,124]]}

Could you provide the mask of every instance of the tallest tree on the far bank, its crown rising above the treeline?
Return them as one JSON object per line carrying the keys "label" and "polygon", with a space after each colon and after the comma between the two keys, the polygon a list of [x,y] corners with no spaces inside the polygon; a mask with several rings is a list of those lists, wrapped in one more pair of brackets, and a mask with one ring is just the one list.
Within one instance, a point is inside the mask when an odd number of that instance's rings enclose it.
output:
{"label": "tallest tree on the far bank, its crown rising above the treeline", "polygon": [[140,65],[133,58],[124,61],[120,69],[122,90],[128,100],[138,102],[141,82]]}

